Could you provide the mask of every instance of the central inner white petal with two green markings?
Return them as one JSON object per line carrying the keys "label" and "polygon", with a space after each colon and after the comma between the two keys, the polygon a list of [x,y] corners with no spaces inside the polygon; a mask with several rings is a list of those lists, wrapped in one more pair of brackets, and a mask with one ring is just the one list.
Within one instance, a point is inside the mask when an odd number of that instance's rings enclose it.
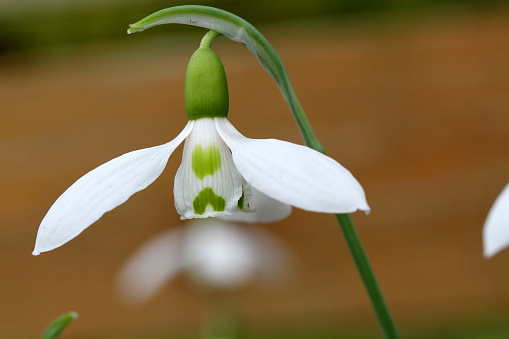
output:
{"label": "central inner white petal with two green markings", "polygon": [[232,214],[242,196],[242,177],[212,118],[195,122],[186,139],[174,184],[182,219]]}

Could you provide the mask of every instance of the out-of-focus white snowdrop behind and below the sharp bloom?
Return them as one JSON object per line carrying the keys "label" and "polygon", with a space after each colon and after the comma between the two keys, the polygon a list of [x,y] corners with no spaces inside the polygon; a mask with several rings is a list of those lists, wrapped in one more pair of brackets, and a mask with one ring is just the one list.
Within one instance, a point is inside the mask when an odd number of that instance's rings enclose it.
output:
{"label": "out-of-focus white snowdrop behind and below the sharp bloom", "polygon": [[179,273],[198,286],[234,290],[256,278],[276,281],[290,263],[286,248],[260,228],[200,220],[148,240],[124,264],[115,287],[121,299],[140,304]]}

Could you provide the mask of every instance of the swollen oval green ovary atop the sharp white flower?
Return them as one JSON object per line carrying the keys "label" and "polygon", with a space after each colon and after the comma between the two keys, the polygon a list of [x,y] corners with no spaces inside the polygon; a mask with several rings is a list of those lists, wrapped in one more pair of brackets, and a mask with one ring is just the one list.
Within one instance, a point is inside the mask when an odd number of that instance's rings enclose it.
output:
{"label": "swollen oval green ovary atop the sharp white flower", "polygon": [[228,115],[228,83],[223,64],[207,46],[198,48],[189,60],[185,103],[189,120]]}

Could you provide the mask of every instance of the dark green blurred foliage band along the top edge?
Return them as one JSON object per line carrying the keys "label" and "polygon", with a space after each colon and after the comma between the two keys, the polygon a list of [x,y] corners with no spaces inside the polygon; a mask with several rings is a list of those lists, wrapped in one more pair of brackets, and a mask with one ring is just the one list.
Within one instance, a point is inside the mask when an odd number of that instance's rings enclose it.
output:
{"label": "dark green blurred foliage band along the top edge", "polygon": [[[419,9],[429,6],[488,6],[496,0],[199,0],[197,5],[218,7],[251,23],[295,20],[321,16],[345,16]],[[41,2],[43,4],[44,2]],[[13,52],[74,48],[126,38],[129,23],[163,8],[191,4],[182,1],[102,1],[88,5],[77,1],[37,7],[18,5],[0,17],[0,56]],[[57,2],[57,4],[59,4]],[[6,5],[4,5],[6,6]],[[13,5],[11,5],[13,6]],[[184,28],[173,27],[178,34]],[[162,30],[156,30],[157,34]]]}

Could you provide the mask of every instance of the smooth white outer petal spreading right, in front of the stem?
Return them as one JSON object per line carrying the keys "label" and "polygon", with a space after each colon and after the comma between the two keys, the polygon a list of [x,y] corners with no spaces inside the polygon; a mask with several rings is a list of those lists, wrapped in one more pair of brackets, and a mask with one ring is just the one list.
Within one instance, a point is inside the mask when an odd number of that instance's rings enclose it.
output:
{"label": "smooth white outer petal spreading right, in front of the stem", "polygon": [[259,191],[308,211],[369,212],[359,182],[332,158],[285,141],[249,139],[226,118],[215,121],[240,174]]}

